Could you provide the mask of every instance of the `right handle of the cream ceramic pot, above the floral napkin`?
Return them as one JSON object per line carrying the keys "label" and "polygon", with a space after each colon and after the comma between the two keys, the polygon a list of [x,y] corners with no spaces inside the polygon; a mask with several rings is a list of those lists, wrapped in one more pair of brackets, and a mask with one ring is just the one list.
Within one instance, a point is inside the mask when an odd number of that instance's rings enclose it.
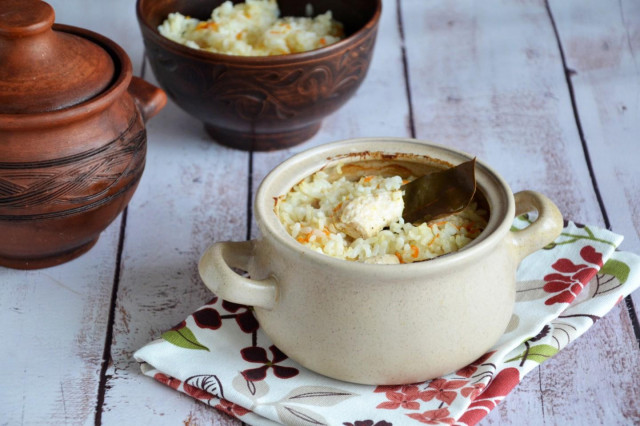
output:
{"label": "right handle of the cream ceramic pot, above the floral napkin", "polygon": [[556,239],[564,226],[558,207],[544,195],[534,191],[514,194],[516,216],[535,210],[538,218],[520,231],[511,231],[511,242],[518,262]]}

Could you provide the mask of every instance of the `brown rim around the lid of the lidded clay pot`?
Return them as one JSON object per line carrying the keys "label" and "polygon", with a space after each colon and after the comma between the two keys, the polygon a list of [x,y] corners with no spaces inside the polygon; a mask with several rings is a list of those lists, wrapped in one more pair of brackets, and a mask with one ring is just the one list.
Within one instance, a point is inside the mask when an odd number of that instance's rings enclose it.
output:
{"label": "brown rim around the lid of the lidded clay pot", "polygon": [[133,75],[133,66],[129,56],[120,45],[101,34],[85,28],[53,24],[53,29],[85,38],[104,49],[113,59],[115,66],[111,84],[97,96],[63,109],[27,114],[0,113],[0,130],[52,127],[84,119],[108,108],[129,86]]}

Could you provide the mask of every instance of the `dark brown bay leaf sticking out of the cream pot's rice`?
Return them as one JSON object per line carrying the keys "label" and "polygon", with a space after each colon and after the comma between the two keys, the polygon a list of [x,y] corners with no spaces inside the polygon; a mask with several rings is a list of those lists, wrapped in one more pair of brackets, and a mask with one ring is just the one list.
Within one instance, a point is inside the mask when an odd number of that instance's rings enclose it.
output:
{"label": "dark brown bay leaf sticking out of the cream pot's rice", "polygon": [[427,222],[464,210],[476,192],[476,159],[421,176],[404,190],[405,222]]}

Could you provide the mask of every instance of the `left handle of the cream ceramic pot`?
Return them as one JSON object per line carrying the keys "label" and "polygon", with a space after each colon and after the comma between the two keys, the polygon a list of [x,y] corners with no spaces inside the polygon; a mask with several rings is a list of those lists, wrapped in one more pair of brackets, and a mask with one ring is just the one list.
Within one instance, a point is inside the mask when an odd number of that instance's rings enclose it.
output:
{"label": "left handle of the cream ceramic pot", "polygon": [[252,280],[235,273],[231,268],[247,270],[253,257],[252,241],[224,241],[215,243],[205,251],[198,264],[204,284],[229,302],[271,309],[276,303],[275,278]]}

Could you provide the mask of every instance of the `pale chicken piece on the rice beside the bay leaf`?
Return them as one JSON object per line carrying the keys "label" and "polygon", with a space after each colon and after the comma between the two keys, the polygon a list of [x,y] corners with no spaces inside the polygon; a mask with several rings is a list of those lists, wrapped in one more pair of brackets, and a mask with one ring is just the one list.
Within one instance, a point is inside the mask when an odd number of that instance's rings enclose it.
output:
{"label": "pale chicken piece on the rice beside the bay leaf", "polygon": [[338,228],[353,238],[370,238],[402,217],[402,191],[361,195],[340,211]]}

